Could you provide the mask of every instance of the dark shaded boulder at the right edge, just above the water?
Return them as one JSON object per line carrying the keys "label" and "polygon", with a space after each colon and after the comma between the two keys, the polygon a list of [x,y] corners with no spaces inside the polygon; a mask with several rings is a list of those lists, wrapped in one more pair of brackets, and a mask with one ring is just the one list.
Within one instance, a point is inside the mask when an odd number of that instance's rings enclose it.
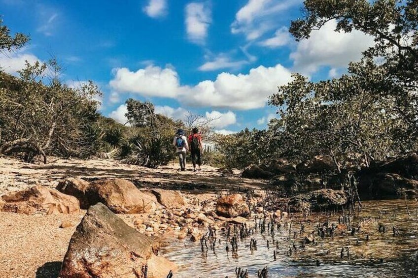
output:
{"label": "dark shaded boulder at the right edge, just above the water", "polygon": [[418,181],[393,173],[377,173],[362,176],[358,185],[362,195],[395,196],[403,192],[418,193]]}

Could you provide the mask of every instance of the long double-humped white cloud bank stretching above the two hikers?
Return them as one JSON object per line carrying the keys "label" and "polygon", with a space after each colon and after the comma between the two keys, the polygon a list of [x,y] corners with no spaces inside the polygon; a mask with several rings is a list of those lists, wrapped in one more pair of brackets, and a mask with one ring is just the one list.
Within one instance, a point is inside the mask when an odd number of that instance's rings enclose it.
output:
{"label": "long double-humped white cloud bank stretching above the two hikers", "polygon": [[280,64],[260,65],[250,69],[248,74],[222,72],[214,81],[204,80],[195,86],[180,86],[178,74],[172,68],[148,66],[136,72],[118,68],[114,73],[110,87],[115,94],[171,97],[193,107],[237,110],[264,107],[267,97],[276,93],[277,86],[291,80],[290,71]]}

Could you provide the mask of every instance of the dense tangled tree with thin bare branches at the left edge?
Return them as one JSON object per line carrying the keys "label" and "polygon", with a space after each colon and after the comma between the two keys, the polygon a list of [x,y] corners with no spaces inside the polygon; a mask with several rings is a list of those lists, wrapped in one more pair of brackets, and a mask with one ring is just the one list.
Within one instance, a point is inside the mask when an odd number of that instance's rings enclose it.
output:
{"label": "dense tangled tree with thin bare branches at the left edge", "polygon": [[[48,65],[50,68],[48,69]],[[96,137],[89,132],[98,118],[93,82],[72,89],[58,75],[54,60],[35,62],[20,71],[20,78],[0,72],[0,154],[25,154],[26,161],[48,154],[89,155]],[[45,80],[49,82],[46,84]]]}

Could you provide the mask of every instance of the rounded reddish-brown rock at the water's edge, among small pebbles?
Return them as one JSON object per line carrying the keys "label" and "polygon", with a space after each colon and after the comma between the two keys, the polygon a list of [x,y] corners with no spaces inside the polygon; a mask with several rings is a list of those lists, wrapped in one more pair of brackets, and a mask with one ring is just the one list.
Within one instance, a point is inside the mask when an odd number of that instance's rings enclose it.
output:
{"label": "rounded reddish-brown rock at the water's edge, among small pebbles", "polygon": [[225,217],[247,216],[249,209],[241,194],[233,194],[219,198],[216,214]]}

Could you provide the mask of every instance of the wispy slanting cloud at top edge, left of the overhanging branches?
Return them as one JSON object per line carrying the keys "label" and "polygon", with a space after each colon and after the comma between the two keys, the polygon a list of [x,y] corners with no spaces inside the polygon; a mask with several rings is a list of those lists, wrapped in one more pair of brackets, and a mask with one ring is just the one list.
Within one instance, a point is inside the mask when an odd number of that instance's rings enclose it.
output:
{"label": "wispy slanting cloud at top edge, left of the overhanging branches", "polygon": [[247,40],[257,39],[267,31],[277,28],[280,13],[301,2],[302,0],[248,0],[235,15],[231,32],[243,33]]}

